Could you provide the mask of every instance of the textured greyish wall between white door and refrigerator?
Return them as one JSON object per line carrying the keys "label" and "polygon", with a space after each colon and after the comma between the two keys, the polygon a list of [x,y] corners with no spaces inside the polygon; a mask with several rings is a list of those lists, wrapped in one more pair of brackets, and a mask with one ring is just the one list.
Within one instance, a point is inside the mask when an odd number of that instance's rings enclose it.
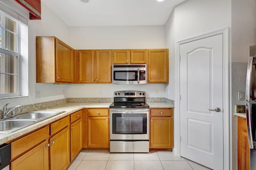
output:
{"label": "textured greyish wall between white door and refrigerator", "polygon": [[[232,0],[232,113],[238,100],[238,91],[245,92],[249,46],[256,44],[256,1]],[[237,117],[232,116],[232,162],[237,167]]]}

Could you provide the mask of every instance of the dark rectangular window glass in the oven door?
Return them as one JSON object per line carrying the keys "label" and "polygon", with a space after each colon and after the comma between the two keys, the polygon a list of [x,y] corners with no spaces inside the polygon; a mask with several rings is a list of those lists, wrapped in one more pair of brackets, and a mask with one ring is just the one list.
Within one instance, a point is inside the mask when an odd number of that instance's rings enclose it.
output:
{"label": "dark rectangular window glass in the oven door", "polygon": [[113,113],[113,134],[146,134],[146,113]]}

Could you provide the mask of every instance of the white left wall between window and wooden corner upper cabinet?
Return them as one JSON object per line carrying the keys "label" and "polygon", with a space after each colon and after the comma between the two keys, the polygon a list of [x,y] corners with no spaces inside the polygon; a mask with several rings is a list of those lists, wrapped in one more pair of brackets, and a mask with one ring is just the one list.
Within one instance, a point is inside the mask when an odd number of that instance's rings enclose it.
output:
{"label": "white left wall between window and wooden corner upper cabinet", "polygon": [[[16,2],[15,2],[16,3]],[[68,43],[68,26],[60,20],[44,3],[41,3],[42,20],[28,20],[28,88],[33,103],[64,98],[67,85],[36,83],[36,36],[56,36]],[[41,98],[35,99],[35,92]],[[10,102],[8,107],[32,104],[29,97],[0,99],[0,107]]]}

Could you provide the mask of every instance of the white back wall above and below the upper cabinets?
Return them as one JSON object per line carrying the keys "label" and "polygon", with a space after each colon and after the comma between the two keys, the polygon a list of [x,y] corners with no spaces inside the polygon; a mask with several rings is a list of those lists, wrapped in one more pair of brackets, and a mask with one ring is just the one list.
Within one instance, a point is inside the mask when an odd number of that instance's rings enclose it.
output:
{"label": "white back wall above and below the upper cabinets", "polygon": [[[74,49],[165,48],[164,25],[69,27],[69,42]],[[75,84],[69,86],[68,97],[112,98],[114,91],[119,90],[140,90],[145,91],[147,97],[166,97],[166,86],[167,84]]]}

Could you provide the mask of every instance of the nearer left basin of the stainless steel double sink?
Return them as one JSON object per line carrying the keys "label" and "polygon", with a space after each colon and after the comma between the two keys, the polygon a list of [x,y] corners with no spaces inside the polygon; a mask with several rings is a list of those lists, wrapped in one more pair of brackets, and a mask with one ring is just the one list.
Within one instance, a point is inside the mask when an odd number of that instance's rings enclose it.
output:
{"label": "nearer left basin of the stainless steel double sink", "polygon": [[4,120],[0,121],[0,133],[12,133],[22,127],[35,123],[36,120]]}

